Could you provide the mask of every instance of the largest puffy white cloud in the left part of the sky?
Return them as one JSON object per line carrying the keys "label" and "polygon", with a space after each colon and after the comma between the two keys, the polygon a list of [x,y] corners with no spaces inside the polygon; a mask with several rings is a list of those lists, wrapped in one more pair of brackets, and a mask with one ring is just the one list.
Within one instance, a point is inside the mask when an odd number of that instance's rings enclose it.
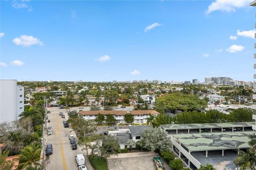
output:
{"label": "largest puffy white cloud in the left part of the sky", "polygon": [[22,35],[20,38],[14,38],[13,43],[16,44],[17,46],[24,46],[24,47],[29,47],[32,45],[39,45],[43,46],[43,42],[40,41],[38,38],[35,38],[33,36],[27,36],[27,35]]}

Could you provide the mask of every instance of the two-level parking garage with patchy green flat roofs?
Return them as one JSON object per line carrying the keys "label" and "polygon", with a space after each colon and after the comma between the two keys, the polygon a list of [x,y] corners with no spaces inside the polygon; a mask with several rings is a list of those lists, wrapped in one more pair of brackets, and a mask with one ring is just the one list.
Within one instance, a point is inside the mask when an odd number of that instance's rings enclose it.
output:
{"label": "two-level parking garage with patchy green flat roofs", "polygon": [[248,142],[254,122],[167,124],[161,129],[171,137],[173,151],[190,169],[206,163],[216,169],[236,169],[238,149],[250,148]]}

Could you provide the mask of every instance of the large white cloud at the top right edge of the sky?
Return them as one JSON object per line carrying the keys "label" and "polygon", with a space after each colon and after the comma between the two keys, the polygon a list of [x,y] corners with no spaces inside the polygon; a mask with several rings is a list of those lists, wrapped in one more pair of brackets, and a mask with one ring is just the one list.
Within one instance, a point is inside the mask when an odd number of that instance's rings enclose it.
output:
{"label": "large white cloud at the top right edge of the sky", "polygon": [[215,0],[208,6],[206,14],[213,11],[235,12],[237,8],[249,6],[251,0]]}

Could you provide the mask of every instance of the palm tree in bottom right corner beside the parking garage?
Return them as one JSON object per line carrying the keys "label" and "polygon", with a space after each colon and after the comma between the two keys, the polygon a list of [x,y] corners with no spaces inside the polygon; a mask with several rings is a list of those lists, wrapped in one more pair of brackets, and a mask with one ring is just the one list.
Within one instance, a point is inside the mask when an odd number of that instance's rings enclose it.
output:
{"label": "palm tree in bottom right corner beside the parking garage", "polygon": [[234,160],[234,164],[237,167],[240,167],[241,170],[245,170],[247,168],[251,170],[255,170],[256,166],[256,155],[253,149],[248,149],[246,152],[241,151],[238,154],[238,157]]}

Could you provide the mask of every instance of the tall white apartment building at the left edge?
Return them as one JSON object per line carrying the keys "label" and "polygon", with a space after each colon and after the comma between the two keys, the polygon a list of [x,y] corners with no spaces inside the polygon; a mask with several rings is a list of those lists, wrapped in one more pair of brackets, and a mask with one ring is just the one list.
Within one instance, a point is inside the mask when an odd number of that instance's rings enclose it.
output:
{"label": "tall white apartment building at the left edge", "polygon": [[17,80],[0,80],[0,122],[19,119],[24,112],[24,88]]}

